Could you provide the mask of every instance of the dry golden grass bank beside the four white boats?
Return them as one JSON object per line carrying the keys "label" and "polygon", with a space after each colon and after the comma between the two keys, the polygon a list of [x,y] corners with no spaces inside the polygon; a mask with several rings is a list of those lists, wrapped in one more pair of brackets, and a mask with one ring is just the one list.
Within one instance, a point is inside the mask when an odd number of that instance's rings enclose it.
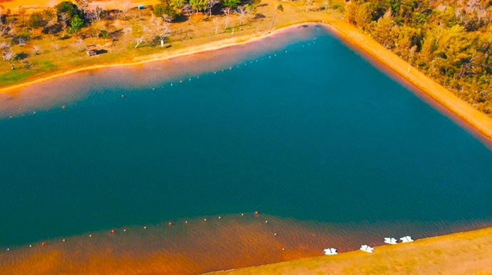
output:
{"label": "dry golden grass bank beside the four white boats", "polygon": [[214,274],[492,274],[492,229]]}

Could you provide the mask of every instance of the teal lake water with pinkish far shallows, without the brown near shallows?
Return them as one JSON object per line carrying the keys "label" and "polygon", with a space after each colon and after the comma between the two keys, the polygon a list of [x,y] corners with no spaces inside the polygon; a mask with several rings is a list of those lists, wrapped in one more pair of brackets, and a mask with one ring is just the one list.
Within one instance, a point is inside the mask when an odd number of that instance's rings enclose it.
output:
{"label": "teal lake water with pinkish far shallows, without the brown near shallows", "polygon": [[196,57],[0,100],[0,247],[255,210],[417,237],[492,222],[492,152],[324,28]]}

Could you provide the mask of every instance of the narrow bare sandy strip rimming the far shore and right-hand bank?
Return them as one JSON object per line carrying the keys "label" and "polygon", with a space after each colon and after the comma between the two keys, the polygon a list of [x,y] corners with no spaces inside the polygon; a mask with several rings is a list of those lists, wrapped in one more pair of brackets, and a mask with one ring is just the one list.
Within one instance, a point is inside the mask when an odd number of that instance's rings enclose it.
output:
{"label": "narrow bare sandy strip rimming the far shore and right-hand bank", "polygon": [[[33,81],[19,83],[16,85],[0,88],[0,93],[9,93],[14,90],[19,90],[29,85],[36,83],[42,83],[55,78],[61,78],[73,73],[79,73],[83,71],[91,71],[101,68],[111,68],[120,66],[137,66],[144,63],[150,63],[154,61],[165,61],[172,58],[178,58],[182,56],[190,56],[195,53],[203,53],[207,51],[217,51],[222,48],[229,48],[233,46],[241,46],[247,43],[259,41],[270,36],[274,36],[284,31],[289,31],[292,28],[302,26],[304,24],[322,24],[317,21],[300,22],[288,26],[283,26],[271,33],[252,33],[245,36],[237,36],[233,38],[226,38],[219,41],[206,43],[200,46],[193,46],[185,48],[183,50],[176,50],[173,52],[158,53],[150,56],[138,56],[133,58],[135,62],[130,63],[111,63],[106,65],[94,65],[82,68],[76,68],[63,73],[55,73],[51,76],[45,76],[34,79]],[[329,20],[324,21],[323,26],[333,31],[335,35],[339,36],[342,41],[349,43],[349,46],[356,48],[361,53],[369,56],[373,66],[379,67],[389,76],[396,78],[403,85],[409,86],[410,90],[414,90],[417,96],[422,100],[430,103],[432,107],[439,111],[444,111],[445,115],[448,115],[455,123],[463,128],[466,128],[469,132],[476,134],[486,145],[492,149],[492,118],[481,113],[466,103],[458,96],[451,93],[451,91],[439,85],[431,78],[421,73],[416,68],[412,67],[409,63],[406,63],[403,59],[396,54],[392,53],[388,49],[381,46],[374,39],[366,36],[358,28],[352,26],[346,21],[342,20]],[[430,101],[430,102],[429,102]]]}

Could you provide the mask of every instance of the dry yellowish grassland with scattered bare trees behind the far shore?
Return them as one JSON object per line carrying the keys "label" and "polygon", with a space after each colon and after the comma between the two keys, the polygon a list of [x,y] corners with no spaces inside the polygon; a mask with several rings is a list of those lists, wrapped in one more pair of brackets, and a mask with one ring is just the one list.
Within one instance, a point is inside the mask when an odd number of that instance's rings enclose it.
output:
{"label": "dry yellowish grassland with scattered bare trees behind the far shore", "polygon": [[[135,4],[137,2],[135,1]],[[244,41],[248,38],[262,36],[267,33],[270,27],[277,4],[277,0],[261,1],[261,4],[257,6],[256,13],[264,14],[266,18],[252,19],[250,17],[250,19],[245,20],[245,24],[242,26],[240,26],[238,16],[231,15],[230,27],[225,29],[224,17],[217,16],[220,19],[219,33],[217,35],[215,35],[215,24],[212,20],[204,20],[201,14],[192,16],[189,21],[173,23],[171,24],[173,33],[170,36],[170,41],[166,43],[166,48],[160,48],[160,46],[150,43],[152,38],[158,34],[150,9],[141,11],[133,9],[125,20],[121,17],[109,20],[108,24],[106,24],[107,26],[103,26],[103,28],[119,33],[116,36],[118,40],[114,43],[103,38],[86,38],[81,43],[82,47],[80,47],[75,36],[69,38],[62,38],[61,35],[50,37],[41,35],[41,30],[37,29],[31,40],[26,43],[26,46],[16,45],[12,47],[14,53],[24,56],[24,58],[14,62],[16,70],[11,71],[8,63],[0,62],[0,88],[46,78],[47,76],[73,71],[78,68],[134,63],[157,57],[163,58],[183,52],[184,49],[190,51],[194,47],[204,46],[207,43],[220,44],[220,41],[226,39]],[[282,4],[284,5],[284,12],[277,16],[273,29],[305,21],[322,21],[340,16],[335,11],[310,11],[306,13],[302,1],[288,1],[282,2]],[[318,6],[313,6],[312,8],[317,9]],[[138,48],[135,48],[135,38],[131,35],[131,24],[135,22],[142,24],[148,30],[146,43],[142,43]],[[21,32],[20,28],[17,32]],[[91,27],[83,28],[83,32],[88,36],[88,33],[91,32]],[[83,46],[91,44],[98,45],[99,48],[105,49],[108,53],[90,58],[84,51],[79,50],[83,49]],[[41,48],[39,54],[34,52],[34,46]]]}

